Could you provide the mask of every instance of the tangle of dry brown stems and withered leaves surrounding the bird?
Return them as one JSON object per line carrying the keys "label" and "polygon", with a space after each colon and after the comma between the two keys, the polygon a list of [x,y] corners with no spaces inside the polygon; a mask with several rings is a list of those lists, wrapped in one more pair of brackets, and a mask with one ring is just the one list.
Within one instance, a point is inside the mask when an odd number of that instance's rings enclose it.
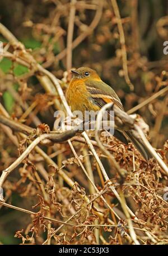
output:
{"label": "tangle of dry brown stems and withered leaves surrounding the bird", "polygon": [[[155,1],[150,16],[146,2],[16,1],[23,14],[0,24],[1,243],[168,243],[168,18]],[[53,131],[55,110],[72,115],[64,95],[73,66],[114,84],[150,126],[162,164],[105,132]]]}

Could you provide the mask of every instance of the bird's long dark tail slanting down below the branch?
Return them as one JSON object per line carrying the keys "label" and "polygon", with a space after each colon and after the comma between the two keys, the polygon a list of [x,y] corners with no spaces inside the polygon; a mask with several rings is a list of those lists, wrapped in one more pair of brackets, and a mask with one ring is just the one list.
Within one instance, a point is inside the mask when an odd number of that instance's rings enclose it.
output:
{"label": "bird's long dark tail slanting down below the branch", "polygon": [[146,161],[152,158],[150,151],[146,145],[144,145],[142,140],[134,138],[130,131],[125,131],[125,133],[127,134],[130,141],[134,144],[134,146],[138,149],[139,153],[142,154],[143,158],[146,159]]}

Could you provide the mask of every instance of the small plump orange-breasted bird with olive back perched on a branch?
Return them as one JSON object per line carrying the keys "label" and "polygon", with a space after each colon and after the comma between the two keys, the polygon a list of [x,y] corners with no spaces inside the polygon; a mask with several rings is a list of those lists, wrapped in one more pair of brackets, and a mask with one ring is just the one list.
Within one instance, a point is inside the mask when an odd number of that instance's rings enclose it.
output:
{"label": "small plump orange-breasted bird with olive back perched on a branch", "polygon": [[[80,67],[71,70],[73,77],[67,89],[67,102],[73,111],[99,111],[105,104],[114,103],[124,111],[122,102],[115,91],[105,84],[97,72],[89,67]],[[114,136],[116,139],[128,144],[130,140],[143,158],[148,161],[151,154],[143,144],[143,141],[135,138],[132,133],[115,129]]]}

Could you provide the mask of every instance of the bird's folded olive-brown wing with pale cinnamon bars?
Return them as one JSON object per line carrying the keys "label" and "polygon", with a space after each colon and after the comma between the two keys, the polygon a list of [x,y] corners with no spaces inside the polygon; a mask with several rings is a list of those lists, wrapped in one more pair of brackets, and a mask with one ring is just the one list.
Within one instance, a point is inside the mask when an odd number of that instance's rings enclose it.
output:
{"label": "bird's folded olive-brown wing with pale cinnamon bars", "polygon": [[122,102],[114,90],[103,81],[87,80],[85,82],[88,92],[92,95],[92,101],[103,107],[106,103],[113,102],[123,110]]}

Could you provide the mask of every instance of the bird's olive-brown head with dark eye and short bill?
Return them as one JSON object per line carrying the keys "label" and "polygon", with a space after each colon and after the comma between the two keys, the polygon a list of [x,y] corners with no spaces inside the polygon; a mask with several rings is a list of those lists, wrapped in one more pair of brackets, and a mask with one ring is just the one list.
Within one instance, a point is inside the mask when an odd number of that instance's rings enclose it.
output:
{"label": "bird's olive-brown head with dark eye and short bill", "polygon": [[95,70],[92,70],[90,67],[79,67],[77,69],[71,70],[73,77],[72,79],[93,79],[93,80],[101,80],[99,75]]}

